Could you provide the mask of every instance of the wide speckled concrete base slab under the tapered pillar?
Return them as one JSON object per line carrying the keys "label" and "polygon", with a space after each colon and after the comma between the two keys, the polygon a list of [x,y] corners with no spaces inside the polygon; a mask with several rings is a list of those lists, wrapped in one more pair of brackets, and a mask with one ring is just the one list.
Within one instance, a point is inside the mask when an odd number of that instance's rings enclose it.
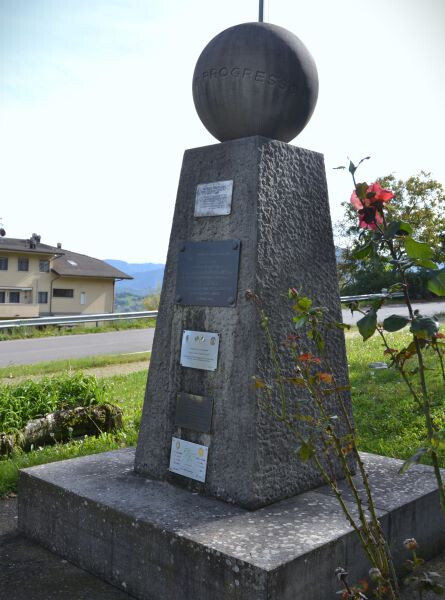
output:
{"label": "wide speckled concrete base slab under the tapered pillar", "polygon": [[[364,455],[397,566],[445,547],[429,467]],[[144,600],[328,600],[369,564],[326,487],[248,511],[133,471],[131,449],[21,471],[19,529]]]}

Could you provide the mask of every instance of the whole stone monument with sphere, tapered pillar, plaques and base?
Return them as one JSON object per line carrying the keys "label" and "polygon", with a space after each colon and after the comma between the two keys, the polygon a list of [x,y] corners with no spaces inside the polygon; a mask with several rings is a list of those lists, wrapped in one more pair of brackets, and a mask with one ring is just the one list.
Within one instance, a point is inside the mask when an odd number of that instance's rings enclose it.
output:
{"label": "whole stone monument with sphere, tapered pillar, plaques and base", "polygon": [[[337,501],[252,385],[271,362],[251,292],[277,340],[290,286],[341,319],[323,157],[287,143],[317,92],[312,57],[281,27],[238,25],[206,47],[193,97],[221,143],[184,155],[136,453],[21,473],[20,529],[137,598],[324,600],[337,566],[367,573]],[[340,331],[327,351],[346,382]],[[366,462],[396,564],[406,537],[438,551],[430,470]]]}

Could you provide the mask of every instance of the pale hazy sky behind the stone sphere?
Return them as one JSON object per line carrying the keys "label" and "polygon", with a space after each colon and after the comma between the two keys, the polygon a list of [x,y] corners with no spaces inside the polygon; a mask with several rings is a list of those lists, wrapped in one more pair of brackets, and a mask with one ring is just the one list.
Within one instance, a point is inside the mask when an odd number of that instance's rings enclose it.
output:
{"label": "pale hazy sky behind the stone sphere", "polygon": [[[0,0],[0,217],[10,237],[164,262],[185,149],[216,143],[193,106],[204,46],[257,0]],[[317,63],[292,142],[325,155],[333,220],[351,183],[420,169],[445,183],[445,1],[265,0]]]}

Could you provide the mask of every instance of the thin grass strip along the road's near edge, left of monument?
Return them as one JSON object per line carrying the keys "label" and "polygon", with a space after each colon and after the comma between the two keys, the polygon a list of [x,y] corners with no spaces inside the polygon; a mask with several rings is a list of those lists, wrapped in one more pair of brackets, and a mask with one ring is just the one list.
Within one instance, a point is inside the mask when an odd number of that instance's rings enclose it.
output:
{"label": "thin grass strip along the road's near edge, left of monument", "polygon": [[33,365],[17,365],[11,367],[0,367],[0,379],[4,377],[27,377],[28,375],[48,375],[64,371],[79,371],[81,369],[92,369],[106,367],[108,365],[129,364],[133,362],[146,361],[150,358],[150,352],[135,352],[133,354],[110,354],[105,356],[88,356],[85,358],[74,358],[70,360],[56,360],[52,362],[36,363]]}

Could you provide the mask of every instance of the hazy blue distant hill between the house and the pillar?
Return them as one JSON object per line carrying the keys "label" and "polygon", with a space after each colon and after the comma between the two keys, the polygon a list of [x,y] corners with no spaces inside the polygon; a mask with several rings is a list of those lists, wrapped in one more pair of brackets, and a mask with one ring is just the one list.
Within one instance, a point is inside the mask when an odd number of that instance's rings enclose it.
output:
{"label": "hazy blue distant hill between the house and the pillar", "polygon": [[106,263],[131,275],[129,281],[116,281],[116,292],[130,292],[137,296],[146,296],[162,285],[165,265],[162,263],[127,263],[113,258],[105,259]]}

